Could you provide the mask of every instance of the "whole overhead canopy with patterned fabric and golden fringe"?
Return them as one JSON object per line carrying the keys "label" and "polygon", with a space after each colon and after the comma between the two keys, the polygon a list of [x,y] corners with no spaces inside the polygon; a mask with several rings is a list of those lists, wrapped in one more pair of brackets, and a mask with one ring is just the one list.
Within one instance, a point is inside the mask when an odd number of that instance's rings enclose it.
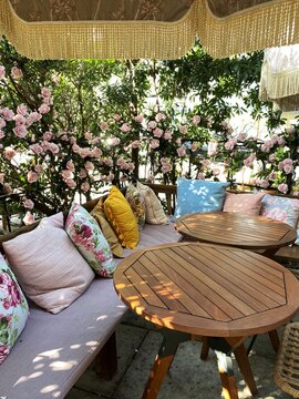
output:
{"label": "whole overhead canopy with patterned fabric and golden fringe", "polygon": [[32,59],[215,58],[299,42],[298,0],[0,0],[0,32]]}

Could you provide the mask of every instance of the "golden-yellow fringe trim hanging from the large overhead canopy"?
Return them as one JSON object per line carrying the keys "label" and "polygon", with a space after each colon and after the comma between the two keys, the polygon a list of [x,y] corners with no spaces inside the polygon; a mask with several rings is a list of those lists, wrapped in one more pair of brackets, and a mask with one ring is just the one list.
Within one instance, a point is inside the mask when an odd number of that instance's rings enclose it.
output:
{"label": "golden-yellow fringe trim hanging from the large overhead canopy", "polygon": [[215,18],[195,0],[184,18],[157,21],[25,22],[0,0],[0,32],[32,59],[177,59],[197,38],[215,58],[299,42],[299,1],[274,0]]}

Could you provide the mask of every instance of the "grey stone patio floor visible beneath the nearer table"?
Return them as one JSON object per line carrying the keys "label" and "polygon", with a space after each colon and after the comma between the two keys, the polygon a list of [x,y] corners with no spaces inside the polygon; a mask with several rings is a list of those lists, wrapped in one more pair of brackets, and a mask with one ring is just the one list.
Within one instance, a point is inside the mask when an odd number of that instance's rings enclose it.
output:
{"label": "grey stone patio floor visible beneath the nearer table", "polygon": [[[299,316],[296,317],[299,320]],[[281,330],[279,331],[281,334]],[[159,344],[161,334],[153,326],[128,314],[116,330],[118,371],[111,381],[97,377],[94,367],[81,377],[66,399],[141,399]],[[216,358],[210,351],[200,360],[200,341],[182,344],[161,388],[158,399],[221,398]],[[267,335],[258,336],[249,356],[256,378],[256,399],[287,399],[274,382],[276,354]],[[234,362],[239,399],[251,398]]]}

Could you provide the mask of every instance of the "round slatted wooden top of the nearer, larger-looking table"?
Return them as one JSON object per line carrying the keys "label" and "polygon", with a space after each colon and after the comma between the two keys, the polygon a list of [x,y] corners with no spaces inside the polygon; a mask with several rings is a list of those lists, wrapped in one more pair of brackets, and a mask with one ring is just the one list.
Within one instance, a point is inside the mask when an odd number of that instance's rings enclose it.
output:
{"label": "round slatted wooden top of the nearer, larger-looking table", "polygon": [[145,319],[212,337],[267,332],[299,308],[299,282],[278,263],[195,242],[136,250],[118,264],[114,286]]}

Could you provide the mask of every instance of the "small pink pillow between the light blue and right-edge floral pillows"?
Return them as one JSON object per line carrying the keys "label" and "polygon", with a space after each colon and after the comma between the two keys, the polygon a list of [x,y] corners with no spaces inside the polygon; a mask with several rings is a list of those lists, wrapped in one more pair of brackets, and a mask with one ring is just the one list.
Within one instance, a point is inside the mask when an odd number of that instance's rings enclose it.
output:
{"label": "small pink pillow between the light blue and right-edge floral pillows", "polygon": [[223,211],[237,212],[244,215],[259,215],[264,195],[265,193],[235,194],[226,192]]}

